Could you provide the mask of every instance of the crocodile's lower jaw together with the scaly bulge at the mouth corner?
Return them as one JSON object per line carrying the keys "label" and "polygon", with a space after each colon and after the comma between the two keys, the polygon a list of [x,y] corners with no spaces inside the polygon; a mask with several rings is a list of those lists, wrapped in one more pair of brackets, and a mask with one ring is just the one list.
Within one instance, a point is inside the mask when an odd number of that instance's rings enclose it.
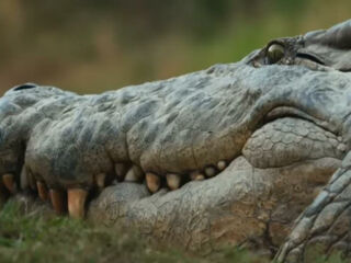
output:
{"label": "crocodile's lower jaw together with the scaly bulge at the mouth corner", "polygon": [[215,176],[173,191],[163,181],[155,193],[147,178],[146,184],[112,185],[90,203],[89,220],[127,222],[147,237],[201,252],[215,243],[257,249],[260,240],[274,254],[291,222],[340,167],[346,146],[298,110],[274,110],[264,122]]}

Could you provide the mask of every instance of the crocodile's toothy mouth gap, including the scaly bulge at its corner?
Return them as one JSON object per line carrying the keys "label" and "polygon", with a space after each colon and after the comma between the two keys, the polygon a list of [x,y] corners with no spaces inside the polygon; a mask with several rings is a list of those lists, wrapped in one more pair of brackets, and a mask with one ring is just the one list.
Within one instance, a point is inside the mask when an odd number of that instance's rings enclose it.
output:
{"label": "crocodile's toothy mouth gap, including the scaly bulge at its corner", "polygon": [[[346,155],[346,150],[347,147],[342,142],[342,138],[336,136],[326,122],[321,122],[301,110],[280,106],[265,115],[260,127],[252,133],[242,149],[235,153],[231,159],[218,160],[203,169],[188,171],[186,174],[166,173],[161,176],[144,171],[133,163],[115,163],[112,172],[98,173],[91,179],[92,186],[89,186],[88,193],[72,184],[68,185],[66,194],[65,191],[61,191],[65,187],[50,186],[49,181],[44,181],[37,174],[33,174],[24,163],[22,171],[16,176],[18,180],[14,180],[11,174],[4,174],[3,182],[10,193],[32,188],[32,192],[37,193],[42,199],[50,199],[56,211],[63,213],[64,205],[61,203],[64,199],[87,198],[89,202],[99,196],[105,187],[122,182],[141,183],[147,186],[148,195],[151,195],[160,190],[179,190],[192,181],[201,183],[201,181],[220,174],[228,174],[228,167],[241,156],[252,167],[265,169],[281,168],[296,162],[328,157],[340,160]],[[31,151],[29,152],[31,153]],[[26,161],[31,161],[31,155],[27,155]],[[32,161],[32,163],[35,163],[35,161]],[[48,190],[50,191],[48,192]],[[3,187],[0,191],[7,192]],[[78,206],[80,208],[76,216],[81,217],[84,213],[81,205]],[[77,208],[72,207],[71,210],[75,211]]]}

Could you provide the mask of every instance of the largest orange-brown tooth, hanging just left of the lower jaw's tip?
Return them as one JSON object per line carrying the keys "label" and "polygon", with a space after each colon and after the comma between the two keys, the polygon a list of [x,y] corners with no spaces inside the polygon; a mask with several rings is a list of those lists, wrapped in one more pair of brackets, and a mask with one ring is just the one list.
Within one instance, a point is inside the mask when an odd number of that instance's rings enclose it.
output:
{"label": "largest orange-brown tooth, hanging just left of the lower jaw's tip", "polygon": [[67,194],[69,216],[76,219],[82,219],[84,217],[88,191],[83,188],[69,188]]}

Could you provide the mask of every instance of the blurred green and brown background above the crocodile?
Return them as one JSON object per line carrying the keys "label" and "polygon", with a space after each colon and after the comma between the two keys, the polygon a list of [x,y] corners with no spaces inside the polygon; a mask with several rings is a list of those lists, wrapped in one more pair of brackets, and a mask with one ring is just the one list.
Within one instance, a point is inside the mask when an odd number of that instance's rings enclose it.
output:
{"label": "blurred green and brown background above the crocodile", "polygon": [[0,95],[98,93],[231,62],[350,19],[350,0],[0,0]]}

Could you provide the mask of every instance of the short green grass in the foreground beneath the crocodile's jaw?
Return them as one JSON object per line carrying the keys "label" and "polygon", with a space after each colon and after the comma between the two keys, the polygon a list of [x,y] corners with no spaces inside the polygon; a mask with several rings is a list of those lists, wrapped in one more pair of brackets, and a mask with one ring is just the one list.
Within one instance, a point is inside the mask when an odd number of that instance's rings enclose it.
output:
{"label": "short green grass in the foreground beneath the crocodile's jaw", "polygon": [[[328,261],[310,253],[308,262],[342,263],[335,254]],[[268,263],[270,260],[240,249],[225,249],[200,256],[150,243],[125,229],[91,226],[87,221],[30,211],[8,202],[0,211],[0,262],[87,263]]]}

